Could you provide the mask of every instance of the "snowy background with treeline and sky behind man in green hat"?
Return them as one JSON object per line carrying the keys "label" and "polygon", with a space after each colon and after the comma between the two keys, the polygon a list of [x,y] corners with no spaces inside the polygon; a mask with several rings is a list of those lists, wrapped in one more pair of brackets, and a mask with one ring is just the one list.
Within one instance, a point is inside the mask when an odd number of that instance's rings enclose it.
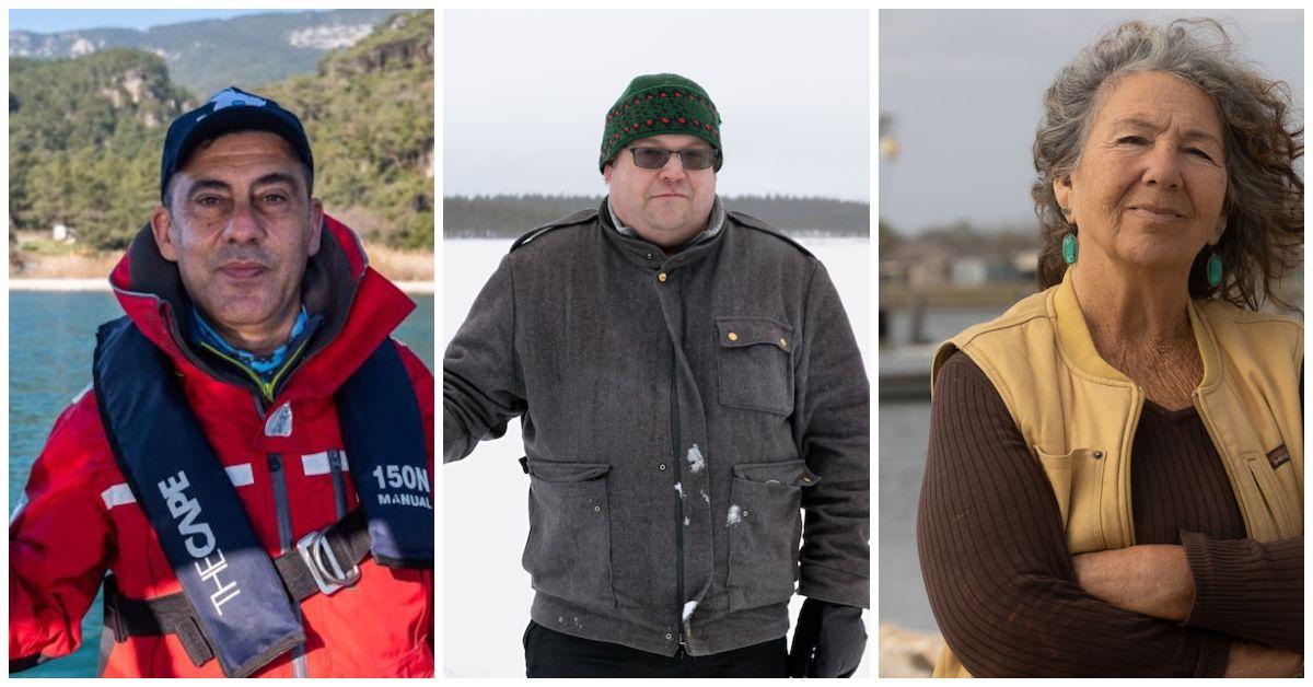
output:
{"label": "snowy background with treeline and sky behind man in green hat", "polygon": [[[723,120],[717,193],[825,263],[871,349],[871,13],[442,13],[442,340],[511,243],[597,208],[605,114],[641,74],[697,81]],[[445,345],[445,344],[444,344]],[[533,590],[519,422],[442,468],[442,674],[523,676]],[[801,606],[794,596],[793,613]],[[869,615],[869,613],[868,613]],[[872,636],[874,636],[872,627]],[[859,669],[869,675],[873,654]]]}

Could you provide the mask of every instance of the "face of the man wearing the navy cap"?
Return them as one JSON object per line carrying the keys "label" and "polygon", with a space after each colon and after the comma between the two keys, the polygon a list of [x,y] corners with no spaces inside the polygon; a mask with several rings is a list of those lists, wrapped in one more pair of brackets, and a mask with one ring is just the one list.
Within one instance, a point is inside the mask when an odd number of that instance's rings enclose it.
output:
{"label": "face of the man wearing the navy cap", "polygon": [[230,343],[290,331],[323,219],[291,146],[268,131],[198,146],[172,180],[169,205],[151,217],[155,243],[210,323]]}

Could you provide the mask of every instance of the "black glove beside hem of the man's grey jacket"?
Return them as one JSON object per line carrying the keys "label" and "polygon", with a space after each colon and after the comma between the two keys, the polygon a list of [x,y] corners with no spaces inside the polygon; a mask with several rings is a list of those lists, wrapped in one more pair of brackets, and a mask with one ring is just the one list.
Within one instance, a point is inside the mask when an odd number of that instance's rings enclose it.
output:
{"label": "black glove beside hem of the man's grey jacket", "polygon": [[851,678],[867,650],[861,608],[807,599],[789,650],[790,678]]}

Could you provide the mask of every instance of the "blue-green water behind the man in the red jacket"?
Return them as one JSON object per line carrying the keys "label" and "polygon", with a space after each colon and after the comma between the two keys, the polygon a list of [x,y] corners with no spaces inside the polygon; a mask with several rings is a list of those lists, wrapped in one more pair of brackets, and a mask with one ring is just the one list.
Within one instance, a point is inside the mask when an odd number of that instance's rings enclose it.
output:
{"label": "blue-green water behind the man in the red jacket", "polygon": [[[397,338],[433,366],[433,297],[414,294],[418,307]],[[109,293],[12,292],[9,294],[9,512],[28,482],[55,418],[91,384],[96,326],[122,315]],[[21,676],[95,676],[101,602],[83,620],[83,644],[72,655]]]}

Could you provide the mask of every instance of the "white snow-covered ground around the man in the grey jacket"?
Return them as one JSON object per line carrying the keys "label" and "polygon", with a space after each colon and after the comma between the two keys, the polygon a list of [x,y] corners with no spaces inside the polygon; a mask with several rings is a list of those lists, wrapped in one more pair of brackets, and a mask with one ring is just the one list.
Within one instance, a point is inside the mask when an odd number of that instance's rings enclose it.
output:
{"label": "white snow-covered ground around the man in the grey jacket", "polygon": [[[861,348],[867,377],[874,373],[871,349],[872,301],[869,242],[815,238],[802,242],[825,263],[839,290]],[[496,269],[511,240],[463,239],[442,243],[442,348],[469,313],[483,282]],[[517,460],[524,454],[519,422],[506,436],[486,441],[466,460],[440,470],[442,491],[442,674],[460,678],[524,676],[520,644],[529,623],[533,590],[520,554],[529,533],[528,477]],[[802,598],[794,596],[797,617]],[[871,613],[871,645],[857,676],[871,675],[876,655],[876,627]]]}

